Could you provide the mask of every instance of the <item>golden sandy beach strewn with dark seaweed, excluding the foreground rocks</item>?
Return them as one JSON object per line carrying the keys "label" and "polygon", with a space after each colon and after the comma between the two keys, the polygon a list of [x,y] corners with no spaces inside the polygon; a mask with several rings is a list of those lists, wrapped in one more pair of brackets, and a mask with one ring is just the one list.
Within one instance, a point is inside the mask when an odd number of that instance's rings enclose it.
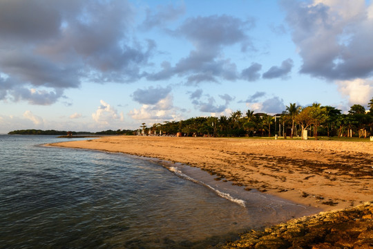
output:
{"label": "golden sandy beach strewn with dark seaweed, excluding the foreground rocks", "polygon": [[185,163],[325,211],[373,201],[373,142],[113,136],[54,146]]}

